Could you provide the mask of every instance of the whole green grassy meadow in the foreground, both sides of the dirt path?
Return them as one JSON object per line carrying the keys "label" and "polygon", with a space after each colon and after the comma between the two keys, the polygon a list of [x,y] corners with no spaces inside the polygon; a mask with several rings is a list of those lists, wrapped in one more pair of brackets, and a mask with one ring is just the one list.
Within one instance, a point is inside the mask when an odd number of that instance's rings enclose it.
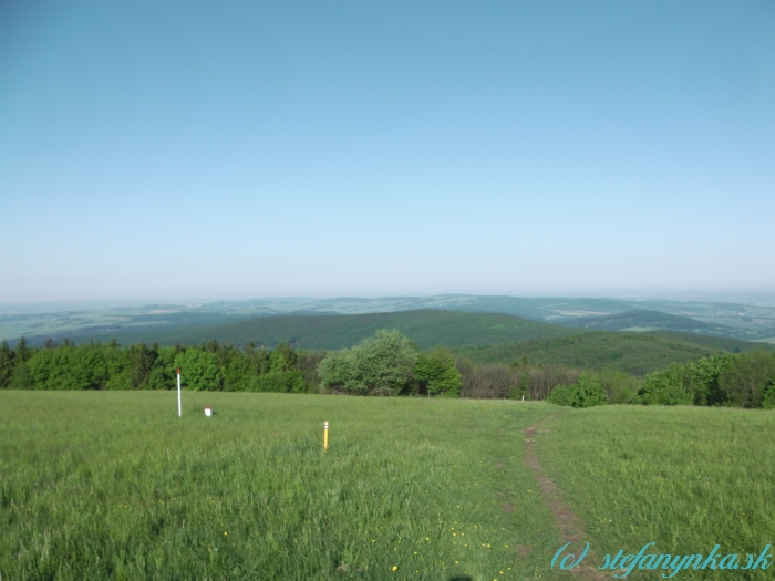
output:
{"label": "whole green grassy meadow in the foreground, both sides of the dirt path", "polygon": [[577,578],[550,569],[567,540],[524,461],[541,421],[595,564],[775,539],[773,412],[203,392],[183,411],[174,392],[0,392],[2,579]]}

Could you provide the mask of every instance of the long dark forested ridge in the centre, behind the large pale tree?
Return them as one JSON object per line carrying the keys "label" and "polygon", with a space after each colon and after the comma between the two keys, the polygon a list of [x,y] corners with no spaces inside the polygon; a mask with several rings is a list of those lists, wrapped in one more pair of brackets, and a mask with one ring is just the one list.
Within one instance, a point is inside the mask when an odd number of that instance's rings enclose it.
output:
{"label": "long dark forested ridge in the centre, behind the large pale tree", "polygon": [[162,344],[196,344],[217,339],[221,343],[242,345],[247,341],[276,345],[296,341],[301,349],[350,347],[379,329],[397,329],[421,347],[485,345],[509,341],[578,334],[580,331],[526,321],[496,313],[456,311],[403,311],[370,314],[264,317],[220,326],[190,330],[158,330],[122,333],[123,344],[158,341]]}

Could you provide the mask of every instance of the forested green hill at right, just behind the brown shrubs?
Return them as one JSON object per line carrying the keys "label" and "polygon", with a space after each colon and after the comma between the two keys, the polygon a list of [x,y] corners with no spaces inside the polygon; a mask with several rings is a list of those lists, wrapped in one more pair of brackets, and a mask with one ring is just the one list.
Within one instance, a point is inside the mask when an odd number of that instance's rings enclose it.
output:
{"label": "forested green hill at right, just behind the brown shrubs", "polygon": [[596,331],[574,336],[459,350],[474,361],[510,363],[527,355],[533,363],[564,364],[589,370],[612,369],[643,374],[673,362],[688,363],[713,353],[768,349],[735,339],[660,331],[622,333]]}

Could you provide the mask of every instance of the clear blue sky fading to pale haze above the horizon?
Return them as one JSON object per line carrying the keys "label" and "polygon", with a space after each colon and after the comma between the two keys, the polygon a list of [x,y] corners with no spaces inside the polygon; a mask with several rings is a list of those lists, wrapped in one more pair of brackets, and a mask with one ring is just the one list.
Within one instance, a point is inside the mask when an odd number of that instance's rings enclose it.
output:
{"label": "clear blue sky fading to pale haze above the horizon", "polygon": [[775,288],[775,2],[0,3],[0,302]]}

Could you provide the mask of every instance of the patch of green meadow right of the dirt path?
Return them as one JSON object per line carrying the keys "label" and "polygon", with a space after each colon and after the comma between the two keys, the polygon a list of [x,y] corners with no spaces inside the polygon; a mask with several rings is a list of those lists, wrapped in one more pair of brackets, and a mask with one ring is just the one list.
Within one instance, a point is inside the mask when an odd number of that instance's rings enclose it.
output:
{"label": "patch of green meadow right of the dirt path", "polygon": [[[599,558],[619,549],[760,554],[775,539],[775,412],[601,406],[544,424],[537,453],[586,522]],[[585,539],[586,540],[586,539]],[[754,557],[754,558],[755,558]],[[628,579],[661,579],[633,571]],[[669,571],[665,571],[670,574]],[[606,571],[612,579],[612,571]],[[768,571],[684,570],[675,579],[771,579]]]}

